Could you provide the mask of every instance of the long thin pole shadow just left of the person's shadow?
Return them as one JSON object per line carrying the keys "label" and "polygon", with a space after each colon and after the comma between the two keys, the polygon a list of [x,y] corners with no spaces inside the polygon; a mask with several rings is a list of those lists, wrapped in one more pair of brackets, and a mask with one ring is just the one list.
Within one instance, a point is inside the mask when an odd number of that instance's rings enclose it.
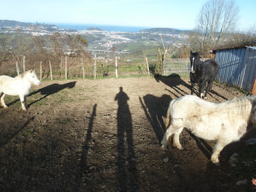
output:
{"label": "long thin pole shadow just left of the person's shadow", "polygon": [[[96,108],[97,104],[93,106],[93,111],[90,116],[90,121],[88,124],[88,129],[86,133],[86,139],[83,144],[83,150],[82,150],[82,155],[81,155],[81,163],[80,166],[78,167],[78,170],[76,172],[76,184],[74,185],[74,190],[73,191],[79,191],[82,183],[82,175],[87,171],[87,158],[88,158],[88,151],[90,148],[90,142],[92,139],[92,132],[93,132],[93,121],[94,117],[96,116]],[[86,183],[87,181],[85,181]]]}

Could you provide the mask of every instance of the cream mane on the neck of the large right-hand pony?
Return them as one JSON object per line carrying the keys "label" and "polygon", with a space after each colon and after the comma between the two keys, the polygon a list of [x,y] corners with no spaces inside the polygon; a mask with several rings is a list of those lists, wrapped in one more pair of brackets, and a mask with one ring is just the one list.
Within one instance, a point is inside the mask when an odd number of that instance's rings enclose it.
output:
{"label": "cream mane on the neck of the large right-hand pony", "polygon": [[233,118],[239,118],[238,116],[250,117],[251,109],[256,104],[254,100],[256,96],[243,96],[241,98],[234,98],[217,104],[217,110],[221,113],[227,113]]}

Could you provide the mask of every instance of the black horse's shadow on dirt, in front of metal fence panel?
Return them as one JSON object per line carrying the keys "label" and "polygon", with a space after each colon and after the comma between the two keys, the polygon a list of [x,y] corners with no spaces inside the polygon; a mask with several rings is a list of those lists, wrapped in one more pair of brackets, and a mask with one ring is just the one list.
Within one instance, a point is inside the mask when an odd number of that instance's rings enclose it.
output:
{"label": "black horse's shadow on dirt, in front of metal fence panel", "polygon": [[166,89],[168,90],[170,93],[172,93],[173,95],[175,95],[177,98],[179,98],[180,96],[178,96],[176,93],[179,93],[181,96],[184,95],[188,95],[189,93],[187,93],[186,91],[184,91],[183,89],[181,89],[179,87],[179,85],[183,85],[184,87],[188,88],[189,90],[191,89],[191,86],[189,84],[187,84],[185,81],[183,81],[180,78],[180,75],[178,75],[177,73],[172,73],[169,76],[160,76],[160,75],[155,75],[154,76],[155,80],[157,82],[163,82],[164,84],[166,84],[168,87],[172,88],[173,90],[175,90],[175,92],[172,92],[172,90]]}

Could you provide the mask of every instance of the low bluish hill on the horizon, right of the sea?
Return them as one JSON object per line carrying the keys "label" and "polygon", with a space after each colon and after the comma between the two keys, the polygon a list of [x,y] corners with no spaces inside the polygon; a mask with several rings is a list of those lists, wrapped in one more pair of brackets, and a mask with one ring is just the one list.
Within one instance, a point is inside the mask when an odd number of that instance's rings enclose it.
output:
{"label": "low bluish hill on the horizon, right of the sea", "polygon": [[140,33],[150,33],[150,34],[163,34],[163,35],[175,35],[175,34],[189,34],[189,30],[179,30],[173,28],[152,28],[140,30]]}

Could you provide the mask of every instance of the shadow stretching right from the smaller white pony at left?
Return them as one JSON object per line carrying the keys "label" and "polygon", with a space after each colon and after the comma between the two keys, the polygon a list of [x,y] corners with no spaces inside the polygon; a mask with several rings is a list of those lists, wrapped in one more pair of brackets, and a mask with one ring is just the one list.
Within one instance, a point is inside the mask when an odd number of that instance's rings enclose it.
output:
{"label": "shadow stretching right from the smaller white pony at left", "polygon": [[65,88],[70,88],[71,89],[71,88],[75,87],[76,82],[77,81],[73,81],[73,82],[69,82],[69,83],[65,83],[65,84],[54,83],[54,84],[50,84],[50,85],[48,85],[46,87],[43,87],[43,88],[41,88],[41,89],[39,89],[37,91],[34,91],[33,93],[30,93],[28,96],[32,96],[32,95],[35,95],[37,93],[41,93],[41,95],[44,95],[44,96],[41,97],[40,99],[38,99],[37,101],[31,102],[30,104],[28,104],[28,107],[30,105],[33,105],[36,102],[41,101],[42,99],[46,98],[49,95],[58,93],[59,91],[65,89]]}

